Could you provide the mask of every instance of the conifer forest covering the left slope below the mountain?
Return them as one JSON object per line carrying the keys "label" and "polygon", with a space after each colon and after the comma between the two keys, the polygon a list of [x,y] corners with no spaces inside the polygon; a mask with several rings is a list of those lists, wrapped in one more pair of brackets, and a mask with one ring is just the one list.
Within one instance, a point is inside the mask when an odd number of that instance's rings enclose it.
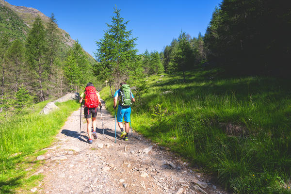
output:
{"label": "conifer forest covering the left slope below the mountain", "polygon": [[79,92],[83,84],[95,81],[94,60],[78,40],[66,48],[57,27],[52,14],[47,28],[36,17],[25,38],[0,32],[1,116],[11,116],[67,92]]}

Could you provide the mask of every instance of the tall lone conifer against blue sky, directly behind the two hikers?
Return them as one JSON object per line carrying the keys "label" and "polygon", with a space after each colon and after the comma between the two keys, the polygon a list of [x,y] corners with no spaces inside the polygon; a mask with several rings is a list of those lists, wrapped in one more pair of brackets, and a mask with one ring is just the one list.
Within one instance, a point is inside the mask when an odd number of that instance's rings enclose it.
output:
{"label": "tall lone conifer against blue sky, directly behind the two hikers", "polygon": [[126,30],[129,21],[124,22],[120,16],[120,10],[114,8],[111,24],[107,24],[103,39],[96,41],[97,52],[95,53],[97,62],[96,73],[100,80],[108,80],[113,83],[115,89],[122,80],[129,76],[129,70],[134,68],[136,57],[135,41],[131,38],[132,31]]}

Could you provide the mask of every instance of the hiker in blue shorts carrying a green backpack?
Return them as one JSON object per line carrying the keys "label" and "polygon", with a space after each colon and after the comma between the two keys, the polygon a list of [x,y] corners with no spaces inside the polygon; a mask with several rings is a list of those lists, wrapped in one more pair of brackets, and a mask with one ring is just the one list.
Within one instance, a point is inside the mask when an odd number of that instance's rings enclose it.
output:
{"label": "hiker in blue shorts carrying a green backpack", "polygon": [[[129,122],[130,122],[130,113],[131,113],[131,102],[135,102],[133,94],[130,90],[130,87],[126,82],[120,83],[120,89],[114,93],[113,96],[113,109],[115,111],[117,105],[117,99],[119,100],[118,103],[118,111],[117,111],[117,123],[121,130],[120,137],[125,137],[125,141],[129,141],[128,134],[129,134]],[[123,121],[125,122],[125,131],[123,130]]]}

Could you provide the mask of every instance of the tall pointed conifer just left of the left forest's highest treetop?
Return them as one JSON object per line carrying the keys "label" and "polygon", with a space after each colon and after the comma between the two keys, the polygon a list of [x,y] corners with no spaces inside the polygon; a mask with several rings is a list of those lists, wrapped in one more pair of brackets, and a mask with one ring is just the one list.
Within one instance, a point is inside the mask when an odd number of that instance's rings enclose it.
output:
{"label": "tall pointed conifer just left of the left forest's highest treetop", "polygon": [[43,81],[47,78],[47,41],[46,31],[43,22],[39,16],[35,18],[32,24],[32,30],[29,32],[26,43],[26,54],[28,63],[37,79],[37,94],[39,101],[45,100],[43,92]]}

